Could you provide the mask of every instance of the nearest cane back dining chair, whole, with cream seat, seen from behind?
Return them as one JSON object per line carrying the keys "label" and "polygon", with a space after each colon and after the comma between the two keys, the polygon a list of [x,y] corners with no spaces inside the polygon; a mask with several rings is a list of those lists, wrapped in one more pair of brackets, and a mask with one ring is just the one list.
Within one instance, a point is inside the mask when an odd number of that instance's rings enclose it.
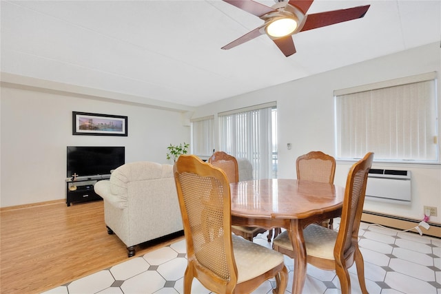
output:
{"label": "nearest cane back dining chair, whole, with cream seat, seen from behind", "polygon": [[276,277],[273,292],[285,293],[283,254],[232,234],[225,173],[196,156],[181,155],[174,179],[187,245],[184,293],[191,292],[194,277],[214,293],[251,293]]}

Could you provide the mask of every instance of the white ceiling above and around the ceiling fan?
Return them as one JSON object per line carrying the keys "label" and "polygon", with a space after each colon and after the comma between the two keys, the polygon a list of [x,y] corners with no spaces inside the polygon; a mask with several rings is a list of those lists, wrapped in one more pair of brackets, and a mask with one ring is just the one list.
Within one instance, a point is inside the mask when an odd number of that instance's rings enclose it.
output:
{"label": "white ceiling above and around the ceiling fan", "polygon": [[440,0],[316,0],[308,13],[367,4],[362,19],[294,35],[285,57],[265,35],[221,50],[263,21],[220,0],[1,0],[0,69],[198,106],[440,41]]}

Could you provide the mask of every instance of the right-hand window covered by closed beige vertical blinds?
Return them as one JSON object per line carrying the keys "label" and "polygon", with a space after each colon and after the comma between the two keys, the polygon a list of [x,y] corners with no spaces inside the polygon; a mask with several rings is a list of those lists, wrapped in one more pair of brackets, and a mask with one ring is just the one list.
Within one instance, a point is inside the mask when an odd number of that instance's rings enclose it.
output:
{"label": "right-hand window covered by closed beige vertical blinds", "polygon": [[337,158],[437,162],[435,72],[334,92]]}

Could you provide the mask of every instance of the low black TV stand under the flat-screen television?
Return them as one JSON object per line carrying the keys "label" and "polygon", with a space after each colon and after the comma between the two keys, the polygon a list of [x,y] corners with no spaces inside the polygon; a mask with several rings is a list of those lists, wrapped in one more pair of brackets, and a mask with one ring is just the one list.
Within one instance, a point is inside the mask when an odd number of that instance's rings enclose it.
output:
{"label": "low black TV stand under the flat-screen television", "polygon": [[70,207],[72,202],[88,202],[94,200],[103,200],[94,191],[94,185],[99,180],[107,180],[110,175],[85,176],[66,179],[66,204]]}

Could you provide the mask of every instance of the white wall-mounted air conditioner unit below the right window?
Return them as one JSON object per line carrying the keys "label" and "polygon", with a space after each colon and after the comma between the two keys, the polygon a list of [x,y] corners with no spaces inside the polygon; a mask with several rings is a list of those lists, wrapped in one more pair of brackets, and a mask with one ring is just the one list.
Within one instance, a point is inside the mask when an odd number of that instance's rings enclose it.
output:
{"label": "white wall-mounted air conditioner unit below the right window", "polygon": [[382,202],[411,202],[411,171],[370,169],[366,197]]}

